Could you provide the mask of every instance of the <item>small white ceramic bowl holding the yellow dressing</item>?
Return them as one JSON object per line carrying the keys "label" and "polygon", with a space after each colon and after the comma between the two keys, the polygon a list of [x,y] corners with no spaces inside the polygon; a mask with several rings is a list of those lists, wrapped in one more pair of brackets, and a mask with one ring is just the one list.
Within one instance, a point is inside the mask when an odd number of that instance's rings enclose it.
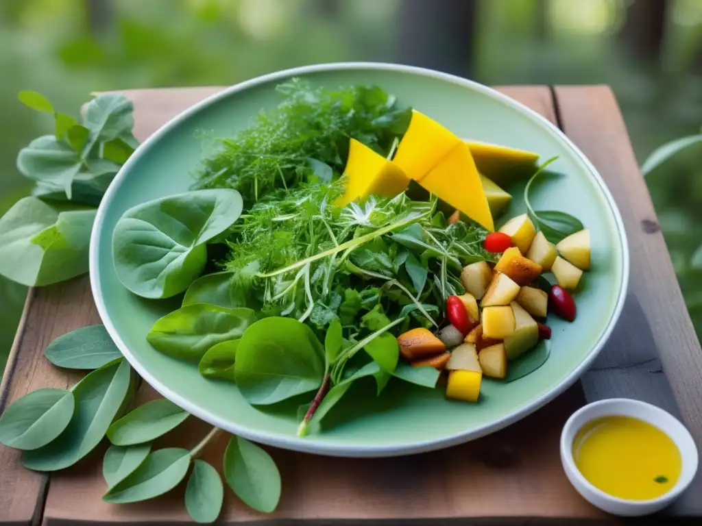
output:
{"label": "small white ceramic bowl holding the yellow dressing", "polygon": [[[598,490],[585,479],[573,459],[573,440],[578,430],[585,424],[594,419],[609,416],[634,417],[643,420],[658,427],[673,439],[682,457],[682,472],[670,491],[656,499],[633,501],[612,497],[602,490]],[[655,513],[680,496],[695,476],[698,456],[697,447],[689,431],[672,414],[663,411],[660,407],[639,400],[610,398],[585,405],[571,415],[561,433],[561,461],[568,480],[590,504],[614,515],[638,517]]]}

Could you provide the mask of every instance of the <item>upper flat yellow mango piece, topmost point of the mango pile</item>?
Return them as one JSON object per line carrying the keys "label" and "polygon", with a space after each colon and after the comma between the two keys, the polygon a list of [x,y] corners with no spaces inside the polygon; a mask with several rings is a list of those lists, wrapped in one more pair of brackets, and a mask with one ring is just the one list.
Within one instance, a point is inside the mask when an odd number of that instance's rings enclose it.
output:
{"label": "upper flat yellow mango piece, topmost point of the mango pile", "polygon": [[450,130],[413,109],[409,128],[392,162],[402,168],[407,177],[419,181],[460,142]]}

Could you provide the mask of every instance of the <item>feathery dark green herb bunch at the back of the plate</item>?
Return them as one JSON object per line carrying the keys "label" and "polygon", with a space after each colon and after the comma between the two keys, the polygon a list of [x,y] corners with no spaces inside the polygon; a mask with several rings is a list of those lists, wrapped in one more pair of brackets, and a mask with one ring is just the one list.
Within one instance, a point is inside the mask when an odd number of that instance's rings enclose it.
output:
{"label": "feathery dark green herb bunch at the back of the plate", "polygon": [[277,189],[339,175],[350,137],[385,156],[409,126],[411,110],[376,86],[333,90],[293,79],[277,90],[284,99],[274,111],[219,140],[220,151],[204,161],[197,187],[238,190],[249,207]]}

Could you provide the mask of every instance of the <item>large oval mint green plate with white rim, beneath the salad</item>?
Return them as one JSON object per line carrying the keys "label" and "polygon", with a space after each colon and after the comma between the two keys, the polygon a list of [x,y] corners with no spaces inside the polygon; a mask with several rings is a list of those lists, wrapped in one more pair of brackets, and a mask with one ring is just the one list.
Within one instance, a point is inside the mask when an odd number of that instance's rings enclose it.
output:
{"label": "large oval mint green plate with white rim, beneath the salad", "polygon": [[[279,102],[275,86],[304,76],[324,86],[373,83],[461,137],[536,151],[563,173],[536,192],[536,209],[565,210],[590,229],[592,270],[576,294],[575,323],[550,319],[548,361],[509,384],[484,380],[479,403],[446,400],[443,389],[390,382],[380,398],[359,385],[326,417],[324,427],[296,436],[301,400],[259,410],[234,384],[204,379],[197,366],[169,358],[146,341],[152,323],[177,301],[153,301],[124,288],[112,264],[112,231],[125,210],[186,191],[203,154],[201,133],[227,136],[262,108]],[[521,190],[509,214],[523,210]],[[381,457],[448,447],[484,436],[525,417],[573,384],[592,363],[621,312],[628,283],[621,217],[602,178],[557,128],[505,95],[458,77],[385,64],[331,64],[291,69],[246,81],[173,119],[124,165],[98,210],[91,240],[91,283],[98,311],[124,356],[154,389],[206,422],[257,442],[317,454]],[[366,389],[364,389],[366,388]],[[309,401],[309,400],[306,400]]]}

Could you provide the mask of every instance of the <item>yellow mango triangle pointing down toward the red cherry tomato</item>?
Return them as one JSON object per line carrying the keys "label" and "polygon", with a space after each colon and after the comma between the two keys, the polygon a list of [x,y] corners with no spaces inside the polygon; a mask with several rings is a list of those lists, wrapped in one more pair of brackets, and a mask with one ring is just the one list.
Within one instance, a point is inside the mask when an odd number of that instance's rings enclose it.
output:
{"label": "yellow mango triangle pointing down toward the red cherry tomato", "polygon": [[468,146],[463,142],[456,144],[419,180],[419,184],[489,231],[494,231],[495,225],[478,170]]}

